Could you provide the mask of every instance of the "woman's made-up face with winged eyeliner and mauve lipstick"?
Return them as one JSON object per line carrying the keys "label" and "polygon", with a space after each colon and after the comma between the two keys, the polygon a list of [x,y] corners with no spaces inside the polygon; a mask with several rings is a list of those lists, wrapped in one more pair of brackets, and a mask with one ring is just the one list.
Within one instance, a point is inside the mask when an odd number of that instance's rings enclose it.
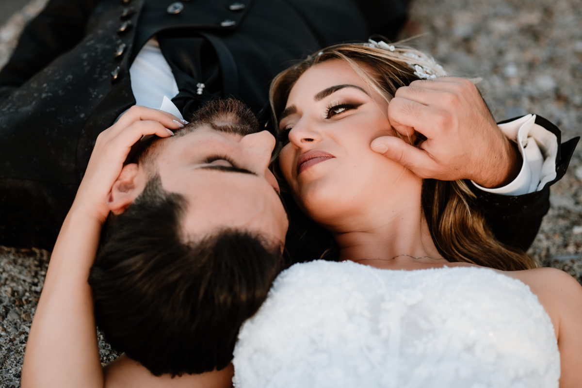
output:
{"label": "woman's made-up face with winged eyeliner and mauve lipstick", "polygon": [[[346,212],[398,201],[420,179],[370,149],[394,134],[388,102],[343,60],[308,69],[293,86],[279,128],[289,141],[279,165],[304,211],[324,224]],[[403,191],[402,193],[405,193]]]}

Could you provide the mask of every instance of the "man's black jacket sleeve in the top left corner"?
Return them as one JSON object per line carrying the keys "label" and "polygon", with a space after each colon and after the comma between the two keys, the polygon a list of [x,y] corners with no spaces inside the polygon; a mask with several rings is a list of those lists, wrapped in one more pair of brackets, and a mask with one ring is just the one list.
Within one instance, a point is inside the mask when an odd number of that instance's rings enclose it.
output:
{"label": "man's black jacket sleeve in the top left corner", "polygon": [[0,71],[0,101],[76,45],[100,0],[50,0],[24,28],[10,60]]}

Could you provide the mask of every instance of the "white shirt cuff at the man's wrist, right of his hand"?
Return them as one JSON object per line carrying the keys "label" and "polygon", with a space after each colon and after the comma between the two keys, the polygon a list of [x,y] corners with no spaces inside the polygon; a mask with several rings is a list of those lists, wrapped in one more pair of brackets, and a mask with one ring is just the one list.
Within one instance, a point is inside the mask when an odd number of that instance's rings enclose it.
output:
{"label": "white shirt cuff at the man's wrist, right of his hand", "polygon": [[523,165],[511,183],[498,188],[485,188],[473,182],[475,187],[488,193],[522,195],[542,190],[545,184],[556,178],[558,138],[535,123],[535,115],[526,115],[509,123],[499,124],[509,140],[516,140]]}

